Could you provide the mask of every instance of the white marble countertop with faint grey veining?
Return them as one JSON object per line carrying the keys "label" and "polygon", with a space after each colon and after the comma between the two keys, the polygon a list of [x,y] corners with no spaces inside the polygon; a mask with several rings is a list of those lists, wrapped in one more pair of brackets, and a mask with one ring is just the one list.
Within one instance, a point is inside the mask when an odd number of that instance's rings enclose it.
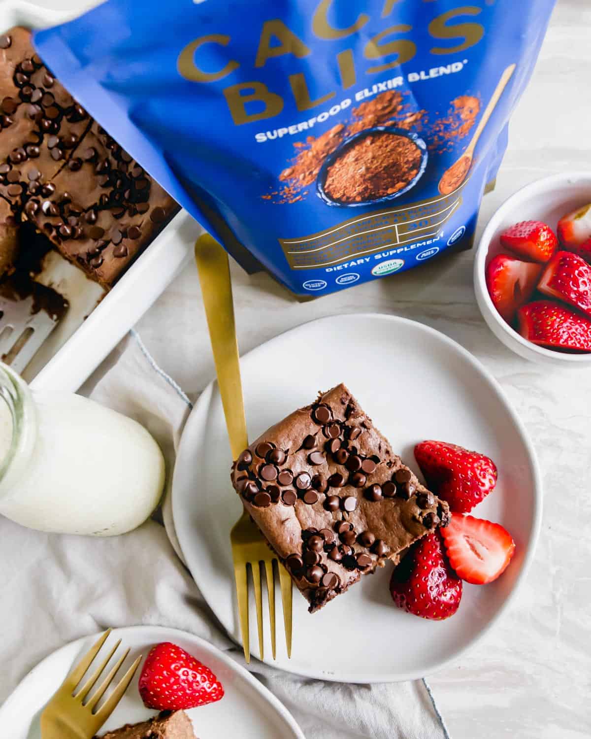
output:
{"label": "white marble countertop with faint grey veining", "polygon": [[[496,190],[482,202],[479,231],[522,185],[591,168],[590,28],[589,0],[558,0],[510,123]],[[233,268],[240,350],[320,316],[378,311],[442,331],[491,369],[539,454],[542,536],[510,612],[454,667],[433,675],[431,687],[454,739],[583,739],[591,735],[591,372],[531,364],[500,344],[476,307],[473,259],[473,251],[444,256],[419,270],[304,303],[264,274],[249,277]],[[194,269],[166,290],[137,330],[189,395],[213,376]]]}

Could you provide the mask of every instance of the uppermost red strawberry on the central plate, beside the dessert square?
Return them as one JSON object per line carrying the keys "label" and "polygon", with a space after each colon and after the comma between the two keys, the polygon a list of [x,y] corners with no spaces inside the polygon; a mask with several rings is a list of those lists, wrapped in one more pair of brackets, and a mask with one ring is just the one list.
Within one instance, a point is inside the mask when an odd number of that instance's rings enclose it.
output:
{"label": "uppermost red strawberry on the central plate, beside the dessert square", "polygon": [[414,458],[427,486],[447,500],[453,513],[468,513],[496,485],[493,460],[457,444],[423,441],[414,447]]}

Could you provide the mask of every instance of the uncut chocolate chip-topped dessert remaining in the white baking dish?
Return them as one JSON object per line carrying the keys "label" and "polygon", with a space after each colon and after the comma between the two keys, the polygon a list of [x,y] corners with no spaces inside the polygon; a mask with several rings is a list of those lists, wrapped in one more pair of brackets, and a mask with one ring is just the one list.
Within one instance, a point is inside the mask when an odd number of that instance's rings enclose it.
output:
{"label": "uncut chocolate chip-topped dessert remaining in the white baking dish", "polygon": [[[105,287],[179,210],[53,77],[21,27],[0,36],[0,198]],[[12,236],[4,223],[0,243]]]}

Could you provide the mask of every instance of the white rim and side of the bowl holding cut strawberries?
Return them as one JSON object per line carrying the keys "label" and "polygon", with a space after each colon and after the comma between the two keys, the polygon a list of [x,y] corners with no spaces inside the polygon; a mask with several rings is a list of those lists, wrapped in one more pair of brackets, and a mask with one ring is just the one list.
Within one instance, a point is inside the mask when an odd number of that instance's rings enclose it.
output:
{"label": "white rim and side of the bowl holding cut strawberries", "polygon": [[[523,200],[527,200],[527,196],[536,191],[540,191],[541,189],[547,191],[553,189],[554,186],[556,186],[556,189],[558,190],[560,185],[568,185],[572,180],[576,180],[578,178],[591,180],[591,171],[576,171],[568,174],[550,174],[547,177],[540,177],[538,180],[534,180],[514,192],[513,195],[505,200],[505,202],[503,202],[503,204],[494,212],[491,219],[488,221],[488,224],[480,237],[476,256],[474,258],[474,282],[476,282],[477,289],[479,289],[479,296],[488,308],[491,319],[502,328],[503,332],[507,334],[512,341],[516,341],[518,344],[521,344],[521,346],[528,352],[533,353],[533,355],[538,355],[539,358],[544,361],[551,359],[553,361],[562,361],[565,364],[588,364],[591,362],[591,353],[566,354],[555,352],[554,350],[546,349],[545,347],[539,347],[537,344],[532,344],[531,341],[527,341],[526,338],[523,338],[521,334],[517,333],[515,329],[510,327],[510,325],[501,318],[496,307],[494,307],[491,296],[488,294],[488,289],[486,287],[485,267],[488,248],[491,245],[491,241],[497,228],[499,228],[499,222],[506,214],[508,214],[508,212],[513,210],[515,205],[519,204],[519,202],[522,202]],[[548,186],[543,187],[542,185]]]}

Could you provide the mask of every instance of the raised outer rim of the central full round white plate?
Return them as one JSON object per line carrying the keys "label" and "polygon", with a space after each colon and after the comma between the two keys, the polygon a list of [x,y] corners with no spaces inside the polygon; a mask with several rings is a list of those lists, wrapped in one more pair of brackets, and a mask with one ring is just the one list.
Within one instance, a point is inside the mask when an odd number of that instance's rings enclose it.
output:
{"label": "raised outer rim of the central full round white plate", "polygon": [[[401,323],[405,324],[414,324],[415,326],[420,327],[420,330],[424,330],[426,333],[431,334],[432,336],[437,336],[440,340],[442,340],[445,344],[448,344],[449,347],[451,347],[452,350],[455,350],[459,352],[467,361],[469,364],[476,369],[476,372],[480,372],[481,375],[484,376],[484,378],[491,384],[491,387],[496,392],[496,395],[499,398],[499,401],[505,406],[505,409],[507,410],[508,414],[510,415],[511,420],[513,420],[513,423],[515,424],[515,427],[517,429],[517,432],[519,433],[519,436],[522,438],[523,445],[525,447],[525,450],[527,452],[527,456],[530,459],[531,462],[531,469],[532,469],[532,477],[533,477],[533,497],[534,497],[534,510],[532,515],[532,529],[531,529],[531,535],[530,539],[527,542],[527,551],[525,553],[525,557],[522,562],[521,571],[519,572],[519,575],[516,577],[515,584],[513,585],[513,589],[511,590],[509,596],[507,599],[505,599],[505,602],[502,604],[501,607],[499,607],[499,610],[496,612],[496,614],[493,616],[493,618],[488,621],[488,624],[486,624],[485,627],[482,628],[482,630],[479,631],[479,633],[474,636],[474,638],[471,639],[471,641],[468,641],[467,644],[465,644],[464,647],[462,647],[460,650],[457,651],[454,655],[447,659],[443,659],[439,661],[433,668],[433,670],[428,674],[433,674],[434,672],[438,672],[439,670],[443,670],[444,667],[447,667],[449,664],[454,663],[457,661],[458,658],[460,658],[462,655],[464,655],[468,650],[471,650],[472,647],[474,647],[484,636],[488,631],[493,627],[494,624],[496,624],[497,621],[503,616],[503,614],[508,609],[511,602],[513,602],[513,599],[515,599],[516,594],[519,592],[519,589],[522,586],[522,583],[524,582],[525,576],[527,576],[527,572],[529,571],[530,565],[533,562],[533,556],[536,553],[536,545],[538,543],[540,530],[542,528],[542,474],[539,468],[539,462],[538,457],[536,454],[536,450],[533,447],[533,443],[530,440],[529,435],[527,434],[527,429],[525,429],[525,425],[523,424],[522,420],[517,415],[515,409],[513,409],[512,404],[509,401],[508,396],[505,393],[505,390],[502,389],[499,382],[496,380],[496,378],[493,377],[492,373],[489,372],[484,365],[474,357],[474,355],[471,355],[468,350],[466,350],[464,347],[462,347],[461,344],[458,344],[457,341],[454,341],[452,338],[449,338],[448,336],[445,336],[444,333],[441,333],[440,331],[437,331],[434,328],[431,328],[430,326],[427,326],[426,324],[420,323],[420,321],[412,321],[411,319],[405,319],[401,316],[392,316],[386,313],[352,313],[350,314],[352,316],[358,317],[358,318],[366,318],[366,319],[386,319],[388,321],[400,321]],[[276,337],[270,338],[269,341],[265,341],[263,344],[260,344],[258,347],[255,347],[254,349],[250,350],[250,352],[247,352],[245,355],[242,356],[241,359],[245,359],[247,357],[249,358],[256,358],[256,356],[260,353],[262,353],[268,344],[272,344],[273,341],[276,341],[277,339],[283,337],[285,334],[290,333],[290,331],[293,331],[294,329],[300,329],[302,326],[307,326],[310,324],[315,323],[322,323],[322,322],[329,322],[332,319],[338,319],[341,316],[324,316],[324,318],[321,319],[315,319],[312,321],[306,321],[304,324],[300,324],[297,327],[294,327],[292,329],[289,329],[287,331],[284,331],[283,333],[279,334]],[[199,396],[199,399],[197,403],[195,403],[193,410],[191,413],[196,412],[196,410],[199,408],[199,403],[202,402],[202,399],[205,401],[206,396],[209,395],[209,392],[211,392],[213,384],[216,383],[216,380],[212,380],[208,386],[205,387],[202,394]],[[209,392],[207,392],[209,391]],[[187,422],[185,423],[185,429],[187,428],[187,425],[189,423],[189,418],[187,419]],[[177,459],[180,458],[182,454],[183,449],[183,437],[184,432],[180,440],[179,449],[177,452]],[[174,505],[174,489],[175,489],[175,479],[177,477],[177,469],[175,468],[173,479],[172,479],[172,486],[171,486],[171,497],[172,497],[172,511],[173,511],[173,519],[175,515],[175,508]],[[228,541],[229,545],[229,541]],[[179,546],[182,551],[182,544],[179,542]],[[191,569],[191,566],[188,564],[188,560],[183,553],[183,559],[185,560],[185,563],[191,572],[191,576],[197,583],[197,586],[202,591],[202,593],[205,593],[204,588],[202,587],[202,579],[199,578],[199,575],[194,573],[194,571]],[[297,593],[296,593],[297,595]],[[216,608],[213,604],[209,604],[211,607],[211,610],[213,610],[213,613],[216,614],[216,617],[219,619],[222,626],[225,628],[226,633],[228,636],[235,641],[233,638],[233,634],[230,633],[228,628],[226,627],[226,624],[222,621],[220,616],[218,615]],[[281,628],[281,625],[278,621],[278,628]],[[242,642],[239,642],[242,646]],[[256,658],[255,658],[256,659]],[[280,664],[276,664],[273,661],[268,660],[268,658],[265,658],[265,664],[269,664],[271,667],[276,667],[277,669],[281,670],[284,669],[281,667]],[[312,670],[285,670],[286,672],[293,672],[293,674],[301,675],[302,677],[306,678],[314,678],[318,679],[318,673],[314,672]],[[345,673],[338,675],[338,677],[332,678],[331,675],[323,675],[322,679],[332,682],[342,682],[342,683],[357,683],[357,684],[368,684],[368,683],[375,683],[375,682],[402,682],[406,680],[419,680],[421,678],[426,677],[425,673],[421,670],[413,671],[409,670],[406,672],[403,672],[401,674],[395,674],[395,675],[384,675],[382,672],[363,672],[360,673],[358,671],[352,672],[352,673]]]}

